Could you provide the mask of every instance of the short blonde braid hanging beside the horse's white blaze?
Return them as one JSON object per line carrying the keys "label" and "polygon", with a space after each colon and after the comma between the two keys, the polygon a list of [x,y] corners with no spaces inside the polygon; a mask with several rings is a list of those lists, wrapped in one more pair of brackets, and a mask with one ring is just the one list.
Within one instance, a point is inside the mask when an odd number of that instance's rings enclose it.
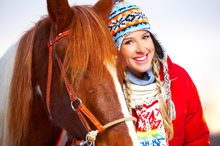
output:
{"label": "short blonde braid hanging beside the horse's white blaze", "polygon": [[126,73],[126,71],[124,72],[124,81],[125,81],[125,94],[127,96],[126,98],[126,102],[127,102],[127,106],[128,106],[128,110],[130,112],[130,114],[132,113],[132,109],[131,109],[131,93],[132,93],[132,89],[131,89],[131,83],[128,79],[128,75]]}

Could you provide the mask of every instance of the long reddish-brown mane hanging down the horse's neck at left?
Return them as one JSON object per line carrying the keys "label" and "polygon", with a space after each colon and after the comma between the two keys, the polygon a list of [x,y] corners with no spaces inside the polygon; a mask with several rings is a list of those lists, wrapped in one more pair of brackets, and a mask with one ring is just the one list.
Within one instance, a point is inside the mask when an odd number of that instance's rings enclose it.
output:
{"label": "long reddish-brown mane hanging down the horse's neck at left", "polygon": [[31,113],[32,88],[32,51],[36,30],[42,21],[26,32],[20,39],[15,66],[9,90],[7,145],[21,145],[27,137]]}

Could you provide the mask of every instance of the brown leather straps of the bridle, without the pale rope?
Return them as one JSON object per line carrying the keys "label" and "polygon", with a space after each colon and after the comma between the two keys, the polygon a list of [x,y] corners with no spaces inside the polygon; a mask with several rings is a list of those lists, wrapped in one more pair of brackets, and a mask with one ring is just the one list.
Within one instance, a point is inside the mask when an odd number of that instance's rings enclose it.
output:
{"label": "brown leather straps of the bridle, without the pale rope", "polygon": [[[57,63],[59,65],[60,71],[61,73],[63,73],[63,65],[62,65],[62,61],[59,58],[59,56],[56,53],[56,50],[53,49],[53,44],[56,43],[60,38],[63,38],[64,36],[67,36],[69,34],[69,30],[60,33],[58,36],[52,38],[52,31],[51,31],[51,35],[50,35],[50,41],[48,42],[48,46],[49,46],[49,65],[48,65],[48,82],[47,82],[47,95],[46,95],[46,101],[47,101],[47,108],[49,113],[50,112],[50,87],[51,87],[51,78],[52,78],[52,51],[54,51],[54,54],[56,56],[56,60]],[[80,118],[81,122],[83,123],[84,127],[86,128],[87,131],[90,130],[85,118],[83,117],[82,113],[87,116],[87,118],[97,127],[97,129],[100,132],[104,131],[103,126],[101,125],[101,123],[95,118],[95,116],[86,108],[86,106],[84,106],[81,101],[77,98],[76,93],[74,92],[69,79],[67,78],[66,74],[63,73],[63,79],[64,79],[64,83],[66,86],[66,89],[68,91],[69,94],[69,98],[71,100],[71,106],[74,107],[73,109],[75,110],[75,112],[77,113],[78,117]],[[82,112],[82,113],[81,113]]]}

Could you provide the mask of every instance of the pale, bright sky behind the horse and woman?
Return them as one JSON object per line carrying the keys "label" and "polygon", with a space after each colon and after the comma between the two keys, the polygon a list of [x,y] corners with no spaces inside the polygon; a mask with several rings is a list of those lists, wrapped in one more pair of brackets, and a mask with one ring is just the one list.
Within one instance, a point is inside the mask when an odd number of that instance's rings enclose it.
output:
{"label": "pale, bright sky behind the horse and woman", "polygon": [[[198,88],[211,134],[220,133],[220,1],[127,0],[141,7],[168,55]],[[97,0],[69,0],[94,4]],[[0,57],[47,15],[46,0],[0,0]]]}

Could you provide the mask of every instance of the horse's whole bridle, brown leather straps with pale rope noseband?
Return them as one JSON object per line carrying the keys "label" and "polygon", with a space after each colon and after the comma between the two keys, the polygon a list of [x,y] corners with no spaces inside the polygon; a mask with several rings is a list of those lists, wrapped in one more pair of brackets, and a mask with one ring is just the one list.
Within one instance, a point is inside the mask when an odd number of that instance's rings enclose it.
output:
{"label": "horse's whole bridle, brown leather straps with pale rope noseband", "polygon": [[[51,27],[51,31],[50,31],[50,38],[49,38],[49,42],[48,42],[48,47],[49,47],[49,61],[48,61],[48,76],[47,76],[47,90],[46,90],[46,105],[47,105],[47,110],[49,112],[49,114],[51,115],[51,111],[50,111],[50,88],[51,88],[51,79],[52,79],[52,53],[54,52],[55,57],[56,57],[56,61],[58,63],[58,66],[60,68],[60,71],[62,73],[63,70],[63,64],[61,59],[59,58],[56,49],[54,47],[54,45],[57,43],[58,40],[60,40],[63,37],[66,37],[69,35],[70,30],[64,31],[62,33],[59,33],[56,37],[53,38],[53,29]],[[72,107],[72,109],[76,112],[76,114],[78,115],[81,123],[83,124],[83,126],[85,127],[86,131],[88,132],[88,134],[86,135],[86,139],[85,140],[76,140],[74,139],[74,144],[76,145],[94,145],[94,142],[96,140],[96,136],[99,132],[103,132],[105,129],[119,124],[121,122],[125,122],[125,121],[134,121],[136,122],[137,119],[135,117],[125,117],[125,118],[121,118],[118,120],[115,120],[109,124],[106,125],[102,125],[97,119],[96,117],[89,111],[89,109],[86,108],[85,105],[83,105],[82,101],[77,97],[76,93],[74,92],[69,79],[67,78],[67,75],[64,73],[63,75],[63,79],[64,79],[64,83],[71,101],[70,106]],[[97,130],[91,130],[89,124],[87,123],[84,115],[96,126]]]}

